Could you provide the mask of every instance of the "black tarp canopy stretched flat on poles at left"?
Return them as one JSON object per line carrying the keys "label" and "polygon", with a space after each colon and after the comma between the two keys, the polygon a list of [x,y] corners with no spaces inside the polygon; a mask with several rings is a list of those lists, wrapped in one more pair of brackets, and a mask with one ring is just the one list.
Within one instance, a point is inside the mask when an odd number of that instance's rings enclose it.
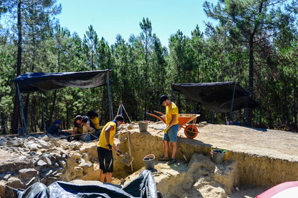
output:
{"label": "black tarp canopy stretched flat on poles at left", "polygon": [[20,91],[50,91],[57,88],[77,87],[94,88],[106,84],[106,73],[112,70],[59,72],[59,73],[26,73],[13,81],[18,83]]}

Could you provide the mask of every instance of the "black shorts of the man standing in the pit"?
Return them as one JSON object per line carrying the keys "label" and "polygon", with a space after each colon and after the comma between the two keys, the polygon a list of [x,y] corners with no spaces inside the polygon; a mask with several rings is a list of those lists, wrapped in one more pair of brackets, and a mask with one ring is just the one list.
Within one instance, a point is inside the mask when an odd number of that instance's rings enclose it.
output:
{"label": "black shorts of the man standing in the pit", "polygon": [[113,153],[111,150],[97,147],[97,153],[99,155],[99,169],[103,171],[103,173],[114,172],[114,161],[113,161]]}

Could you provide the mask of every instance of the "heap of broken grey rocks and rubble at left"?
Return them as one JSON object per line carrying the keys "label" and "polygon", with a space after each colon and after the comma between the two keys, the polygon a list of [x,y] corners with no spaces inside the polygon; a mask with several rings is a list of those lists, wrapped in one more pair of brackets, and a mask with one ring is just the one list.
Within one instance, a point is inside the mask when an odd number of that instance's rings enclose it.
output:
{"label": "heap of broken grey rocks and rubble at left", "polygon": [[98,179],[94,152],[96,142],[68,142],[47,135],[1,137],[0,197],[13,196],[9,187],[26,189],[34,182],[50,185],[57,180]]}

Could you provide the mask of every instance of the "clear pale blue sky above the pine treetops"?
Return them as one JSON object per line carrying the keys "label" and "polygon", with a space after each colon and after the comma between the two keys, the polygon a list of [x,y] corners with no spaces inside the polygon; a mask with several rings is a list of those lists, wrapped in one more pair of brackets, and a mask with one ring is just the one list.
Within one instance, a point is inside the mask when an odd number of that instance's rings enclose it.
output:
{"label": "clear pale blue sky above the pine treetops", "polygon": [[[217,0],[209,0],[216,4]],[[196,25],[204,32],[207,18],[203,0],[57,0],[62,11],[55,16],[60,25],[83,38],[89,25],[93,25],[99,38],[112,45],[120,34],[126,42],[131,34],[140,35],[143,18],[151,21],[152,32],[163,46],[168,47],[170,35],[182,31],[190,37]]]}

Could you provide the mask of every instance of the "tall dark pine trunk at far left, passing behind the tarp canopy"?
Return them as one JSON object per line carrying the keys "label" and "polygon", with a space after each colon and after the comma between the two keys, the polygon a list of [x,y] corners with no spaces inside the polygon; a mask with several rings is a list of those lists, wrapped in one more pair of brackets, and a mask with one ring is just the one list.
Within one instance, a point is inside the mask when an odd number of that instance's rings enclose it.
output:
{"label": "tall dark pine trunk at far left, passing behind the tarp canopy", "polygon": [[[18,57],[16,61],[16,76],[21,75],[22,64],[22,23],[21,23],[21,0],[18,0]],[[14,95],[13,117],[11,120],[11,133],[18,133],[18,117],[19,117],[20,101],[18,100],[18,90]]]}

